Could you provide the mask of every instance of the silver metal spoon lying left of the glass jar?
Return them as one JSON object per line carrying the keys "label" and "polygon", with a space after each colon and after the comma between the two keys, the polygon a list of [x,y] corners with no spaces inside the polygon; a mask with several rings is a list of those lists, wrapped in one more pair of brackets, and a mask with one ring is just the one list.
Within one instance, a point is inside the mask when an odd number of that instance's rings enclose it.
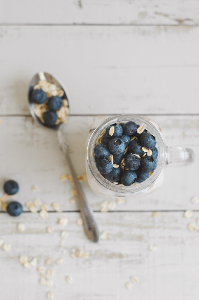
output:
{"label": "silver metal spoon lying left of the glass jar", "polygon": [[[40,121],[40,119],[34,114],[34,103],[31,102],[31,97],[30,97],[33,86],[35,84],[37,84],[37,82],[40,80],[41,81],[46,80],[48,82],[54,83],[58,88],[62,89],[64,91],[63,97],[65,99],[69,100],[69,96],[68,96],[68,93],[66,92],[66,90],[63,88],[63,86],[60,85],[60,83],[50,74],[45,73],[45,72],[39,72],[33,76],[33,78],[31,79],[30,85],[29,85],[29,90],[28,90],[28,104],[29,104],[30,113],[37,122],[39,122],[41,125],[43,125],[45,127],[48,127],[45,124],[43,124]],[[79,204],[81,216],[83,219],[85,233],[91,241],[97,243],[99,241],[99,237],[100,237],[98,226],[95,221],[94,213],[93,213],[90,205],[88,204],[88,202],[86,200],[86,196],[85,196],[85,194],[82,190],[82,187],[77,179],[77,175],[75,173],[74,167],[72,165],[72,161],[69,156],[69,150],[68,150],[66,138],[64,137],[64,135],[61,131],[61,126],[63,126],[63,124],[53,125],[48,128],[57,130],[58,141],[59,141],[62,151],[66,155],[66,159],[68,161],[72,179],[75,184],[75,190],[77,192],[78,204]]]}

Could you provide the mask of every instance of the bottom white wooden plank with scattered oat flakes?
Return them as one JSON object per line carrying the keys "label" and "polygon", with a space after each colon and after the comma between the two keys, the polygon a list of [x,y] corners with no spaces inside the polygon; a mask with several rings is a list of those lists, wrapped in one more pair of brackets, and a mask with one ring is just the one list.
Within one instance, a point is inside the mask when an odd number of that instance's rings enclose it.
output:
{"label": "bottom white wooden plank with scattered oat flakes", "polygon": [[[68,225],[57,224],[58,215],[68,217]],[[76,224],[78,216],[51,213],[48,220],[41,220],[38,214],[24,213],[19,218],[1,214],[1,237],[12,246],[10,252],[0,249],[1,299],[40,300],[48,290],[53,290],[55,299],[67,295],[70,300],[198,299],[199,235],[187,229],[197,213],[190,220],[180,212],[164,212],[159,218],[148,212],[96,213],[100,230],[107,232],[107,240],[98,244],[86,239],[83,228]],[[25,224],[25,232],[16,231],[18,222]],[[54,234],[46,233],[47,226],[54,227]],[[63,229],[69,235],[59,247]],[[154,244],[157,251],[149,251]],[[70,253],[76,249],[89,258],[72,259]],[[37,267],[26,269],[19,263],[24,254],[37,257],[39,266],[52,259],[55,286],[39,285]],[[56,265],[57,258],[63,258],[62,265]],[[73,277],[72,284],[66,283],[66,275]],[[139,282],[127,290],[125,284],[132,275]]]}

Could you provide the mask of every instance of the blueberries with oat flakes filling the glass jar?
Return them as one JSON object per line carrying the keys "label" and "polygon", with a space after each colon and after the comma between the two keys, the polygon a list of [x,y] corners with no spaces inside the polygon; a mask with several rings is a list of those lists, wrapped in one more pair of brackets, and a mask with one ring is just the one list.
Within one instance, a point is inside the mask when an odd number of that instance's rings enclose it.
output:
{"label": "blueberries with oat flakes filling the glass jar", "polygon": [[156,138],[133,121],[108,126],[94,153],[98,171],[120,186],[145,181],[157,167]]}

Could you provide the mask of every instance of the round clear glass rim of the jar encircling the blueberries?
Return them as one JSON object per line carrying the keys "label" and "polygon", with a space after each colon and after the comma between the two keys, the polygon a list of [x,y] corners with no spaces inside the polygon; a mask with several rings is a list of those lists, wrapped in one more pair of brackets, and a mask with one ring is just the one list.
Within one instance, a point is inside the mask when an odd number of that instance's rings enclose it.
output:
{"label": "round clear glass rim of the jar encircling the blueberries", "polygon": [[[114,124],[114,123],[122,123],[122,122],[129,122],[133,121],[136,124],[140,124],[144,126],[147,131],[151,134],[153,134],[156,138],[157,144],[156,147],[158,149],[158,160],[157,160],[157,167],[154,170],[154,172],[151,174],[150,177],[148,177],[145,181],[141,183],[137,183],[136,185],[131,186],[118,186],[117,184],[114,184],[110,181],[108,181],[104,176],[101,175],[101,173],[98,171],[96,165],[95,165],[95,159],[94,159],[94,147],[96,144],[97,138],[100,136],[100,134],[107,128],[107,126]],[[112,190],[114,192],[118,193],[135,193],[139,192],[141,190],[144,190],[146,187],[151,185],[159,176],[159,174],[162,171],[162,167],[164,165],[165,161],[165,145],[162,140],[162,136],[160,132],[157,130],[157,128],[146,118],[133,115],[133,114],[122,114],[117,116],[112,116],[104,122],[102,122],[100,125],[98,125],[97,128],[92,132],[92,135],[89,139],[88,146],[87,146],[87,163],[89,166],[89,169],[94,176],[94,178],[104,187],[106,187],[109,190]]]}

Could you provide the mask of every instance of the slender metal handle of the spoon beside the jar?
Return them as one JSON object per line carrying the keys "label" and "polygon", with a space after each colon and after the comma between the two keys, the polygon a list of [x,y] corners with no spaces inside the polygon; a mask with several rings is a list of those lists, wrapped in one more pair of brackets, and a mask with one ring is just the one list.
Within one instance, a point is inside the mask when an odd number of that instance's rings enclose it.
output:
{"label": "slender metal handle of the spoon beside the jar", "polygon": [[99,234],[98,226],[97,226],[97,223],[96,223],[96,220],[94,217],[94,213],[93,213],[90,205],[88,204],[88,201],[86,200],[86,196],[83,192],[83,189],[77,179],[77,174],[74,170],[74,167],[73,167],[70,155],[69,155],[68,145],[67,145],[66,139],[64,138],[61,130],[57,131],[57,136],[58,136],[58,141],[60,143],[61,149],[64,152],[64,154],[66,155],[66,159],[68,161],[72,179],[75,184],[75,190],[77,192],[77,198],[78,198],[78,202],[79,202],[79,206],[80,206],[81,216],[83,219],[85,233],[86,233],[87,237],[89,238],[89,240],[97,243],[99,241],[100,234]]}

